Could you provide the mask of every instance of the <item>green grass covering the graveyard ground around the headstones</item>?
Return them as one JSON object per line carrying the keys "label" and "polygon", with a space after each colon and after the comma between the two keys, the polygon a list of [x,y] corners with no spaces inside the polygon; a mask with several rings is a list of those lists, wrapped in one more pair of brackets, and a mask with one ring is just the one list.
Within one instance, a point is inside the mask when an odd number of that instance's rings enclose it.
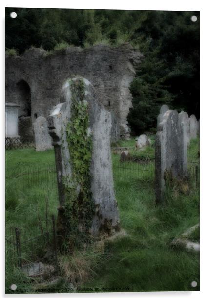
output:
{"label": "green grass covering the graveyard ground around the headstones", "polygon": [[[154,138],[152,137],[152,141]],[[134,146],[134,138],[120,141],[117,146]],[[166,192],[166,204],[155,205],[154,196],[154,147],[145,151],[131,150],[132,155],[148,162],[133,162],[131,169],[118,169],[119,154],[112,152],[114,186],[118,201],[121,236],[113,240],[102,238],[83,252],[59,256],[60,280],[47,288],[65,288],[71,281],[80,288],[98,288],[98,291],[114,288],[114,291],[173,291],[198,290],[190,283],[199,284],[199,255],[182,248],[173,250],[168,243],[189,227],[199,222],[199,189],[191,186],[182,194],[176,186]],[[199,140],[192,140],[188,150],[189,162],[198,162]],[[32,149],[7,151],[7,169],[18,171],[20,167],[32,168],[48,163],[54,165],[54,152],[36,152]],[[141,169],[136,173],[135,169]],[[146,174],[146,170],[152,173]],[[7,182],[6,236],[11,226],[30,228],[37,232],[37,216],[44,224],[47,200],[48,215],[57,212],[58,195],[55,186],[18,189],[14,180]],[[38,230],[39,231],[39,230]],[[39,231],[40,232],[40,231]],[[7,287],[17,284],[21,289],[34,291],[34,282],[25,277],[7,259]],[[35,285],[36,286],[36,285]],[[117,290],[115,290],[115,288]]]}

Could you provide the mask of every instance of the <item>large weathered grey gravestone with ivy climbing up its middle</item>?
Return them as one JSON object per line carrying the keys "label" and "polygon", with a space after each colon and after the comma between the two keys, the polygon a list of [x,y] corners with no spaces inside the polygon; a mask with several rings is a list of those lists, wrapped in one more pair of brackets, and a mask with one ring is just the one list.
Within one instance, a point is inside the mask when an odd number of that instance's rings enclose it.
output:
{"label": "large weathered grey gravestone with ivy climbing up its middle", "polygon": [[88,241],[119,229],[110,152],[111,114],[96,101],[91,83],[68,79],[48,117],[59,189],[61,241]]}

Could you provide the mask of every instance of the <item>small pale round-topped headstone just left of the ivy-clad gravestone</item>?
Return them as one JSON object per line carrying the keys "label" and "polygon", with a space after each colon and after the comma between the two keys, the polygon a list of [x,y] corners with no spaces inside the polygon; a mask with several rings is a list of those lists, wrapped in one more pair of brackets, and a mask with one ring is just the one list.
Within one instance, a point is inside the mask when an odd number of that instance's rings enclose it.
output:
{"label": "small pale round-topped headstone just left of the ivy-clad gravestone", "polygon": [[47,121],[43,116],[39,116],[33,123],[33,130],[36,151],[46,151],[53,148],[51,137],[48,133]]}

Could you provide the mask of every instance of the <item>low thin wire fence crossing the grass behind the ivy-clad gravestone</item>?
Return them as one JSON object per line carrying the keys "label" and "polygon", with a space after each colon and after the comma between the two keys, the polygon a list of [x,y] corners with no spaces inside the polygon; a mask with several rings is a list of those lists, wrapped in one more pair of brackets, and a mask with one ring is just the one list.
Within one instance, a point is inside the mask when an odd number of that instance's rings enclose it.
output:
{"label": "low thin wire fence crossing the grass behind the ivy-clad gravestone", "polygon": [[[128,179],[148,180],[155,179],[154,161],[116,161],[113,164],[114,178],[122,177]],[[190,163],[188,165],[188,181],[194,186],[199,185],[199,164]],[[6,174],[6,183],[12,187],[23,190],[24,188],[57,187],[57,176],[55,165],[36,165],[35,167],[19,167],[11,169]]]}

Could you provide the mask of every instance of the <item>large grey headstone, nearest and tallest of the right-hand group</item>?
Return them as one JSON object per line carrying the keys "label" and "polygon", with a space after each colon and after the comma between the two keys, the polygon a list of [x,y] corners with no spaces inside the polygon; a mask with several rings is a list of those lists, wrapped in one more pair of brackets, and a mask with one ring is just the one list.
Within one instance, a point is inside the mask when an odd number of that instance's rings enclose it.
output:
{"label": "large grey headstone, nearest and tallest of the right-hand group", "polygon": [[177,111],[168,110],[159,124],[155,140],[156,202],[164,200],[166,180],[183,181],[187,177],[185,124]]}

